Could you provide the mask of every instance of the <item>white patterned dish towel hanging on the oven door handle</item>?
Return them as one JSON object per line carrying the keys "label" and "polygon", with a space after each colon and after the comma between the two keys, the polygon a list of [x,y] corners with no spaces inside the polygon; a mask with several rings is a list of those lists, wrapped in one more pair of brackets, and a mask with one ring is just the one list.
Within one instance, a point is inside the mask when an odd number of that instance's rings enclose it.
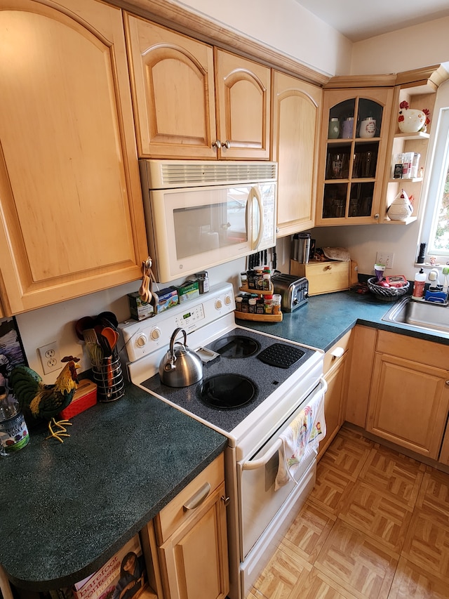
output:
{"label": "white patterned dish towel hanging on the oven door handle", "polygon": [[290,422],[279,438],[279,468],[274,483],[277,491],[289,480],[295,484],[295,472],[310,452],[318,453],[319,442],[326,437],[326,421],[324,420],[324,395],[328,383],[321,377],[321,388],[307,403],[307,406]]}

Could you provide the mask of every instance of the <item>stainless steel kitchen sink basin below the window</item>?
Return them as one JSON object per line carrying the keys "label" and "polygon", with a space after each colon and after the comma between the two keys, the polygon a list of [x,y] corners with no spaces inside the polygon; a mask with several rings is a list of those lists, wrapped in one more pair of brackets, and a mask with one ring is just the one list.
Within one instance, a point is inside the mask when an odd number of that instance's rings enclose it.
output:
{"label": "stainless steel kitchen sink basin below the window", "polygon": [[410,296],[395,303],[382,320],[449,334],[449,306],[414,301]]}

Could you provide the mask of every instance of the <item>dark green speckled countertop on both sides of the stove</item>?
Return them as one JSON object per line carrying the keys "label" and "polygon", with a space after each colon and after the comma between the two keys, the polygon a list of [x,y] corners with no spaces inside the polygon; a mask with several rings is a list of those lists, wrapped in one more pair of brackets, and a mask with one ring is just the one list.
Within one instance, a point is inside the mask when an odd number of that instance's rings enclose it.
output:
{"label": "dark green speckled countertop on both sides of the stove", "polygon": [[[238,322],[325,351],[357,323],[449,345],[449,335],[383,322],[391,305],[342,291],[310,298],[282,322]],[[29,590],[95,572],[227,442],[135,386],[72,423],[64,444],[34,431],[25,449],[0,459],[0,563]]]}

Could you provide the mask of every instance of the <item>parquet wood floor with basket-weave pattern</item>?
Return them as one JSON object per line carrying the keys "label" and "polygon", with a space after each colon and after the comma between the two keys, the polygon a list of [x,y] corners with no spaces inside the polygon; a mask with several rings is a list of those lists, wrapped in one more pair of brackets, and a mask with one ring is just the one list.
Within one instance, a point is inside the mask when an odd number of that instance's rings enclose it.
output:
{"label": "parquet wood floor with basket-weave pattern", "polygon": [[247,599],[342,598],[449,598],[449,475],[344,426]]}

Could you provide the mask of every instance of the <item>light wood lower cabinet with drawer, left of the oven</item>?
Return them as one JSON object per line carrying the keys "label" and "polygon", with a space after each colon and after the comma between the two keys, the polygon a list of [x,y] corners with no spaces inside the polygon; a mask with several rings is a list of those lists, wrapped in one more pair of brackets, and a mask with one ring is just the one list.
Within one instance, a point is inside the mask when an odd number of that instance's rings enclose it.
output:
{"label": "light wood lower cabinet with drawer, left of the oven", "polygon": [[[142,535],[156,549],[158,599],[225,599],[229,592],[223,455],[149,523]],[[146,534],[145,534],[146,533]]]}

